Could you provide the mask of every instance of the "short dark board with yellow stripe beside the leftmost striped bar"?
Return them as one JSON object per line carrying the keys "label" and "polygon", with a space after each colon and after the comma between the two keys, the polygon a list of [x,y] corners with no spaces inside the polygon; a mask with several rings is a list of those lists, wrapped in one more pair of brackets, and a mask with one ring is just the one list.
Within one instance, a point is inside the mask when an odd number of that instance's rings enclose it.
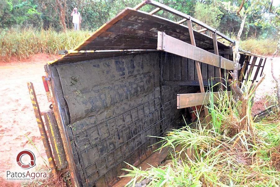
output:
{"label": "short dark board with yellow stripe beside the leftmost striped bar", "polygon": [[53,111],[45,111],[42,112],[44,115],[45,124],[48,129],[49,139],[51,142],[55,165],[57,166],[58,170],[65,169],[68,166],[62,139],[59,133],[58,125],[54,116]]}

